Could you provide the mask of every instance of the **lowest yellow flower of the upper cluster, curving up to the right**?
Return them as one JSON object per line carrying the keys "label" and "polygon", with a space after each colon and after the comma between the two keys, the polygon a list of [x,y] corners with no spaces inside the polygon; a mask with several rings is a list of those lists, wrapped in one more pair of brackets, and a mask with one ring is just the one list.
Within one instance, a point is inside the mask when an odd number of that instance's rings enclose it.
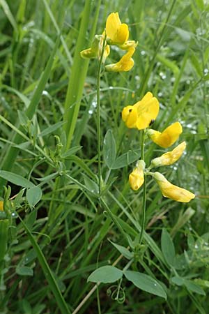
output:
{"label": "lowest yellow flower of the upper cluster, curving up to the right", "polygon": [[111,63],[105,66],[105,69],[109,72],[123,72],[129,71],[134,66],[134,60],[132,55],[134,54],[135,48],[130,47],[130,50],[121,58],[117,63]]}

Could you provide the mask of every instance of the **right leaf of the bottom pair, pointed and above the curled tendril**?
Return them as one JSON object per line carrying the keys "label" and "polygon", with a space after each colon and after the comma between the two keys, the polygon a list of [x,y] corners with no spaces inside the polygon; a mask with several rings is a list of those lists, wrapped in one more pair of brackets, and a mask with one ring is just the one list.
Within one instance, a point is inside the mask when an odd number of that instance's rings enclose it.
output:
{"label": "right leaf of the bottom pair, pointed and above the curled tendril", "polygon": [[131,281],[139,289],[167,299],[167,294],[162,288],[162,285],[152,277],[138,271],[124,271],[124,274],[127,280]]}

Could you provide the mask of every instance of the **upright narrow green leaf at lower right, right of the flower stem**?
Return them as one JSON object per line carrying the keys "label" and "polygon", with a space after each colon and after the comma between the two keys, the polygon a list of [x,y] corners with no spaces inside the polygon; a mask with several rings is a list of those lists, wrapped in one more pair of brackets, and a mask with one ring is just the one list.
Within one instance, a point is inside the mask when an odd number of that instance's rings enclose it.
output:
{"label": "upright narrow green leaf at lower right, right of the flower stem", "polygon": [[164,259],[169,265],[174,266],[176,262],[175,248],[169,232],[164,228],[161,234],[161,248]]}

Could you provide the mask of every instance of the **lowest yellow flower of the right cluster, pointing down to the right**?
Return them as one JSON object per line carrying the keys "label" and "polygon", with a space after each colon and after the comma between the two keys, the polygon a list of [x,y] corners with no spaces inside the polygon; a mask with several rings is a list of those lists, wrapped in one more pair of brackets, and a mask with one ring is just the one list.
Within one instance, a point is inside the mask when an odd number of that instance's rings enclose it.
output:
{"label": "lowest yellow flower of the right cluster, pointing down to the right", "polygon": [[187,203],[195,197],[195,195],[189,192],[189,190],[185,190],[185,188],[179,188],[178,186],[171,184],[160,172],[155,172],[153,177],[160,186],[160,190],[164,197],[183,203]]}

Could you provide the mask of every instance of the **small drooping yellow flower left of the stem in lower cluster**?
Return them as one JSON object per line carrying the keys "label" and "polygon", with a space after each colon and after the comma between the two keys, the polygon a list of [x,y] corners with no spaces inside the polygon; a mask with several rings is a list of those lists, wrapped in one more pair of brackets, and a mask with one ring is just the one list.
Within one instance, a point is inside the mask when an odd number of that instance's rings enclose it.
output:
{"label": "small drooping yellow flower left of the stem in lower cluster", "polygon": [[144,160],[139,160],[137,167],[134,168],[132,173],[129,175],[129,183],[132,190],[139,190],[139,188],[144,184]]}

